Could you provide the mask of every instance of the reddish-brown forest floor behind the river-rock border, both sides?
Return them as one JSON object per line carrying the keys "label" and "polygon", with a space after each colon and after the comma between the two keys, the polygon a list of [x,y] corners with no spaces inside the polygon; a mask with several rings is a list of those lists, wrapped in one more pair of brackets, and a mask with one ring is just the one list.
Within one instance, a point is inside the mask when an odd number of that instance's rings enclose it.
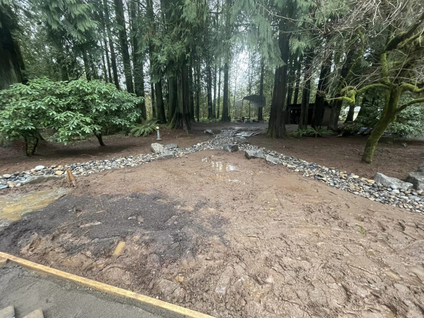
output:
{"label": "reddish-brown forest floor behind the river-rock border, both sides", "polygon": [[[374,162],[361,162],[366,137],[349,136],[321,138],[303,137],[284,139],[269,139],[264,132],[268,123],[192,123],[193,131],[162,129],[162,143],[177,143],[180,148],[208,140],[211,135],[204,134],[205,129],[218,132],[220,129],[240,127],[244,130],[254,129],[261,134],[248,138],[248,141],[259,147],[296,156],[309,162],[317,162],[327,167],[337,167],[359,176],[372,179],[376,172],[384,173],[399,179],[415,171],[424,162],[424,141],[393,140],[382,138],[377,145]],[[287,131],[293,131],[295,125],[287,125]],[[10,147],[0,147],[0,175],[14,171],[29,170],[36,165],[67,165],[88,160],[110,159],[119,156],[134,156],[140,153],[150,153],[150,145],[156,142],[156,134],[149,137],[124,137],[122,135],[105,136],[106,147],[100,147],[95,137],[87,140],[61,145],[55,142],[43,142],[39,145],[36,155],[27,157],[23,152],[24,145],[20,142]],[[406,142],[407,147],[402,146]]]}

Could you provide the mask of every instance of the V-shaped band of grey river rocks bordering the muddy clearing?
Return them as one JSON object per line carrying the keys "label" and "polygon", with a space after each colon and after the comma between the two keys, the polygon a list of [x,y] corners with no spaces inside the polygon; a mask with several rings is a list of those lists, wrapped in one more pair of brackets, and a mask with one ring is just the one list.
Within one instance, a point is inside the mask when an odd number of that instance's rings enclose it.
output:
{"label": "V-shaped band of grey river rocks bordering the muddy clearing", "polygon": [[[421,191],[406,191],[400,189],[393,191],[390,187],[385,187],[376,183],[374,180],[360,178],[354,174],[347,174],[335,168],[328,168],[316,163],[310,163],[296,157],[288,157],[282,153],[271,151],[265,148],[259,148],[254,145],[243,144],[234,141],[234,135],[237,129],[225,129],[215,135],[214,138],[193,145],[189,148],[176,148],[167,151],[166,156],[161,153],[149,153],[146,155],[127,156],[121,158],[112,158],[107,160],[90,160],[84,163],[73,163],[72,165],[56,166],[45,168],[37,166],[30,171],[15,172],[12,174],[4,174],[0,179],[0,190],[7,187],[19,187],[23,184],[37,182],[40,178],[59,177],[66,169],[73,171],[75,176],[84,176],[87,174],[109,170],[113,168],[134,167],[143,165],[148,162],[167,159],[169,157],[181,157],[188,153],[201,151],[206,149],[222,149],[227,144],[238,144],[240,150],[262,150],[266,155],[272,156],[278,162],[295,172],[302,173],[305,177],[317,179],[325,182],[331,187],[338,188],[351,192],[355,195],[368,198],[371,201],[380,202],[399,206],[401,208],[410,209],[412,212],[417,212],[424,215],[424,192]],[[172,156],[170,156],[172,154]],[[399,193],[396,193],[399,192]]]}

